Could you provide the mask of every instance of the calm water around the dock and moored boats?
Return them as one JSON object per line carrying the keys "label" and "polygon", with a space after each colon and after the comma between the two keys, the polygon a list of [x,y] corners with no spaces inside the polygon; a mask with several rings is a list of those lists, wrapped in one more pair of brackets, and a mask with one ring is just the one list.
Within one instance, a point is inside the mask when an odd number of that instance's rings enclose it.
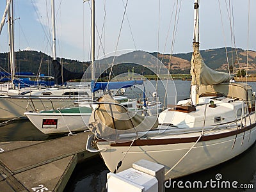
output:
{"label": "calm water around the dock and moored boats", "polygon": [[[255,92],[256,82],[248,84],[252,85],[253,92]],[[175,81],[175,86],[179,99],[189,97],[190,81]],[[0,124],[0,141],[45,139],[51,138],[38,131],[28,120],[19,120],[8,125]],[[77,164],[65,188],[65,192],[106,191],[106,173],[108,172],[108,168],[106,168],[100,157],[95,157],[84,161],[84,163]],[[176,188],[166,188],[166,191],[256,191],[256,145],[253,145],[250,149],[246,150],[246,152],[230,161],[215,166],[214,168],[176,179],[175,181],[189,181],[191,183],[193,183],[193,181],[201,181],[205,183],[211,179],[216,180],[215,177],[217,174],[222,175],[222,180],[230,182],[237,181],[239,184],[253,184],[254,189],[178,189],[176,185]]]}

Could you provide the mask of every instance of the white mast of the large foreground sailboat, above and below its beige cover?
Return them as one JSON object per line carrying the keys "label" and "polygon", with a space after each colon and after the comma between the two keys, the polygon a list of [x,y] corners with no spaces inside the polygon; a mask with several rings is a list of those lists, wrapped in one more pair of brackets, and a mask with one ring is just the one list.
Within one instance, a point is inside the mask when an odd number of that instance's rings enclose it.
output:
{"label": "white mast of the large foreground sailboat, above and below its beige cover", "polygon": [[[193,54],[195,47],[199,49],[199,0],[195,0],[194,3],[194,38],[193,38]],[[192,64],[193,61],[191,61]],[[199,85],[191,81],[191,100],[192,104],[196,105],[199,103]]]}

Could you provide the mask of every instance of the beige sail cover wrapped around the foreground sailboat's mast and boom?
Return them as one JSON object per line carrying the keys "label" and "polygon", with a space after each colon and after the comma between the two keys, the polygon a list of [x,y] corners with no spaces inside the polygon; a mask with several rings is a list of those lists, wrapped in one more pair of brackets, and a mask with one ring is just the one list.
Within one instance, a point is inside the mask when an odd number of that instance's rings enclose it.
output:
{"label": "beige sail cover wrapped around the foreground sailboat's mast and boom", "polygon": [[199,43],[193,44],[190,74],[192,76],[191,85],[211,85],[230,81],[230,74],[218,72],[205,65],[199,51]]}

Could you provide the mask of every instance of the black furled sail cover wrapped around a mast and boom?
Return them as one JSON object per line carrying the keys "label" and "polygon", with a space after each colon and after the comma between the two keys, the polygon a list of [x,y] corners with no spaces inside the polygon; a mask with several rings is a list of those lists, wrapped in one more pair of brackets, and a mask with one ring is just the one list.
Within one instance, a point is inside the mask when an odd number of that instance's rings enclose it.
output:
{"label": "black furled sail cover wrapped around a mast and boom", "polygon": [[83,72],[71,72],[64,67],[61,68],[60,62],[58,60],[53,60],[52,63],[54,68],[55,84],[64,84],[68,80],[81,79],[83,77]]}

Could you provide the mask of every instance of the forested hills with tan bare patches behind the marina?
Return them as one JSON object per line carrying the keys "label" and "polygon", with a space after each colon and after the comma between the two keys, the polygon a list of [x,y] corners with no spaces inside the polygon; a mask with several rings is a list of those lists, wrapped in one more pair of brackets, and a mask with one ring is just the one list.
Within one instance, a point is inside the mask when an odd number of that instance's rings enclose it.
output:
{"label": "forested hills with tan bare patches behind the marina", "polygon": [[[210,68],[228,71],[227,68],[227,54],[225,48],[219,49],[209,49],[201,50],[202,57],[204,58],[205,64]],[[238,68],[246,67],[247,63],[247,51],[243,49],[236,49],[236,51],[230,47],[227,48],[228,52],[228,63],[229,65],[234,66],[234,73]],[[150,52],[153,56],[157,56],[157,52]],[[171,74],[189,74],[190,70],[190,60],[192,52],[173,54],[170,60],[170,54],[158,54],[159,60],[161,60],[166,67],[171,61]],[[129,53],[119,56],[129,57]],[[72,72],[83,72],[90,65],[90,62],[80,62],[76,60],[68,60],[65,58],[58,58],[58,60],[63,64],[63,67],[67,68]],[[17,66],[17,72],[34,72],[38,73],[40,69],[40,74],[45,74],[52,76],[52,58],[43,52],[37,51],[19,51],[15,52],[15,62]],[[0,53],[0,71],[7,70],[10,72],[8,53]],[[256,52],[248,51],[248,63],[249,73],[256,72]],[[131,71],[131,68],[134,68],[134,72],[140,73],[141,68],[138,68],[136,65],[124,65],[122,67],[115,67],[115,74],[121,74]],[[144,74],[147,74],[147,70]]]}

